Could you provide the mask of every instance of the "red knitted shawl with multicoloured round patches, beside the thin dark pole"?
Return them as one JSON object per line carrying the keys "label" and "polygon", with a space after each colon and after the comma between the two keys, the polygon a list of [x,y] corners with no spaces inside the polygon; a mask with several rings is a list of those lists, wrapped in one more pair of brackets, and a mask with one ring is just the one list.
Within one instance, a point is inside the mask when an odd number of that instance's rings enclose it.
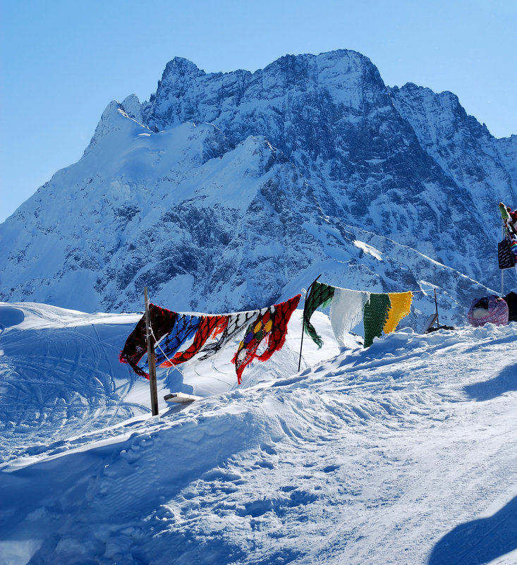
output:
{"label": "red knitted shawl with multicoloured round patches, beside the thin dark pole", "polygon": [[[275,351],[279,351],[286,341],[287,324],[291,315],[300,302],[301,295],[298,294],[286,302],[275,304],[260,312],[246,330],[243,341],[238,346],[237,353],[233,357],[235,363],[237,382],[241,384],[242,375],[246,365],[253,359],[260,361],[268,360]],[[262,341],[267,344],[264,353],[257,355],[257,349]]]}

